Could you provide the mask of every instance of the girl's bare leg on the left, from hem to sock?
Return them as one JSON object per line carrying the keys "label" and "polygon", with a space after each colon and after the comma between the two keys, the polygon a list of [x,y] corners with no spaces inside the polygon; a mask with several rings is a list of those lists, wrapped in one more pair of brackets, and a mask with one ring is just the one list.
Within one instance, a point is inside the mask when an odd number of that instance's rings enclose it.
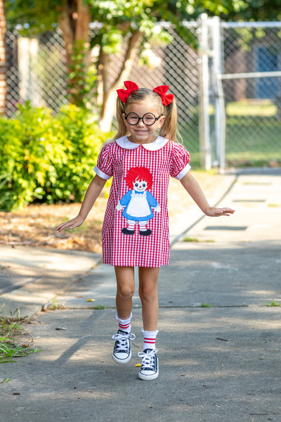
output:
{"label": "girl's bare leg on the left, from hem to sock", "polygon": [[120,319],[128,319],[133,305],[133,293],[135,293],[133,267],[115,267],[115,274],[117,281],[117,315]]}

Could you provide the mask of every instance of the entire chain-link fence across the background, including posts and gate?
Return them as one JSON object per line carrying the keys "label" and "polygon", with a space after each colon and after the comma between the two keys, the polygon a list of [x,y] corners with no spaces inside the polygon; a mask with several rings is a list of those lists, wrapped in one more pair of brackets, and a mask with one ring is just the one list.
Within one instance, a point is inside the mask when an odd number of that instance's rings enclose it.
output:
{"label": "entire chain-link fence across the background, including posts and gate", "polygon": [[[192,162],[209,168],[280,165],[281,23],[223,23],[204,18],[185,23],[185,43],[171,25],[173,41],[152,49],[150,66],[138,54],[129,79],[141,87],[169,84]],[[98,28],[91,28],[95,37]],[[27,39],[6,37],[8,116],[18,103],[58,111],[67,103],[67,69],[60,30]],[[120,53],[122,54],[122,53]],[[111,56],[115,79],[121,60]],[[201,154],[200,154],[201,151]]]}

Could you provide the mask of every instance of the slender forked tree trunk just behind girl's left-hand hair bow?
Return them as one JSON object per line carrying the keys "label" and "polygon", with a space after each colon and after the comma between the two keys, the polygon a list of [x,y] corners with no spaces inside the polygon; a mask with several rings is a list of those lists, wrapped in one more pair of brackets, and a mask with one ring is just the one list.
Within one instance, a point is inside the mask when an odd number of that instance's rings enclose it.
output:
{"label": "slender forked tree trunk just behind girl's left-hand hair bow", "polygon": [[112,119],[115,114],[116,90],[122,87],[124,80],[128,79],[130,75],[131,68],[133,67],[133,60],[136,57],[136,51],[139,41],[141,41],[141,37],[141,31],[136,30],[136,32],[133,32],[131,38],[129,39],[122,68],[111,87],[108,87],[107,82],[107,74],[110,70],[110,67],[108,66],[109,56],[100,49],[100,79],[103,84],[103,105],[100,115],[100,129],[102,129],[103,132],[110,132]]}

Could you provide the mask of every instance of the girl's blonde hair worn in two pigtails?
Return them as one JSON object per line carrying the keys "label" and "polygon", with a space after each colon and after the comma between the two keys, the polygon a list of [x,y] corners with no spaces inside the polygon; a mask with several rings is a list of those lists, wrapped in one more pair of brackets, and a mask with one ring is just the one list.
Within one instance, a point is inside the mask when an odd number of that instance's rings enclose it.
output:
{"label": "girl's blonde hair worn in two pigtails", "polygon": [[124,123],[123,114],[126,114],[126,110],[130,104],[141,103],[143,101],[153,101],[158,103],[159,114],[165,116],[164,123],[159,129],[159,136],[169,138],[172,141],[181,139],[181,135],[178,134],[177,130],[178,112],[175,98],[168,106],[163,106],[162,98],[159,96],[159,94],[152,91],[151,89],[146,88],[140,88],[136,89],[136,91],[133,91],[127,98],[126,103],[123,103],[119,96],[117,96],[116,117],[118,123],[118,132],[114,139],[118,139],[129,134],[126,128],[126,124]]}

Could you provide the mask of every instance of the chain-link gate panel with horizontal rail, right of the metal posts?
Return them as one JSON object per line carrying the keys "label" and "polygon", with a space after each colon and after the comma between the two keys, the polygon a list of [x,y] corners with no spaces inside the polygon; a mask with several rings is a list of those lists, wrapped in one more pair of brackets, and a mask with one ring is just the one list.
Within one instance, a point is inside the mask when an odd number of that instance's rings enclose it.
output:
{"label": "chain-link gate panel with horizontal rail, right of the metal posts", "polygon": [[222,23],[228,165],[280,166],[281,23]]}

